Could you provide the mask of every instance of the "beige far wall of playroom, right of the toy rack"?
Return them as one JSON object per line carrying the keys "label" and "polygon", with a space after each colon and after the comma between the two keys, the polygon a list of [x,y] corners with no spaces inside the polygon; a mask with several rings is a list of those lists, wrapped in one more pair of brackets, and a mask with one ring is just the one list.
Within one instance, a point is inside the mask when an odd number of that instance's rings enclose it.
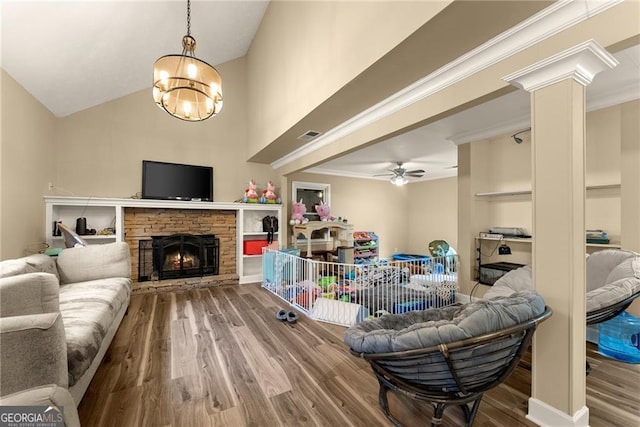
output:
{"label": "beige far wall of playroom, right of the toy rack", "polygon": [[429,242],[446,240],[458,247],[458,180],[457,178],[414,182],[406,185],[407,242],[400,252],[428,254]]}

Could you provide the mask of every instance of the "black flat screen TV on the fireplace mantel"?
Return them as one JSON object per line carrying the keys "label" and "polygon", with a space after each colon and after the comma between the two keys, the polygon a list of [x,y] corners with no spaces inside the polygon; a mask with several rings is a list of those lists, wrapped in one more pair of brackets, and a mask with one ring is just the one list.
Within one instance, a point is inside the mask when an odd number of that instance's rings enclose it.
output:
{"label": "black flat screen TV on the fireplace mantel", "polygon": [[143,160],[142,198],[213,202],[213,168]]}

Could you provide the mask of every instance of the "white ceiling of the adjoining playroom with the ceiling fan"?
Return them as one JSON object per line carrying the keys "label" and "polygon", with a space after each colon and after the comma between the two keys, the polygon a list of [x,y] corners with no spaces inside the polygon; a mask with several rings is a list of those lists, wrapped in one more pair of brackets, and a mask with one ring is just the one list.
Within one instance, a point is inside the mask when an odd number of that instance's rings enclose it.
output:
{"label": "white ceiling of the adjoining playroom with the ceiling fan", "polygon": [[[587,111],[640,98],[640,45],[613,55],[620,64],[598,74],[587,86]],[[309,173],[388,180],[375,176],[403,162],[424,169],[410,182],[456,176],[457,145],[515,133],[530,126],[530,96],[516,90],[429,125],[305,170]]]}

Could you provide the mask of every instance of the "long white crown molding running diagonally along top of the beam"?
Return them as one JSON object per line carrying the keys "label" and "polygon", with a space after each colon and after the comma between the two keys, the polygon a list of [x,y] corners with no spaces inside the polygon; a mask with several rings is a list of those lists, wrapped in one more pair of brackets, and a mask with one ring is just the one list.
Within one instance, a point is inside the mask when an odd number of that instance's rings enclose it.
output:
{"label": "long white crown molding running diagonally along top of the beam", "polygon": [[589,19],[622,0],[559,0],[271,163],[279,169]]}

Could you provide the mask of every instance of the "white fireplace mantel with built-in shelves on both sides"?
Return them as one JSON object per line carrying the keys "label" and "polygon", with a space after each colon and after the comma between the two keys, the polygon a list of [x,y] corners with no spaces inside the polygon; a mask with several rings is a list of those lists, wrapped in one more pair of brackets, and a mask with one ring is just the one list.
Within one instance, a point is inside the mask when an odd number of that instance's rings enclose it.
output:
{"label": "white fireplace mantel with built-in shelves on both sides", "polygon": [[[63,246],[62,239],[53,236],[54,221],[62,221],[73,228],[76,218],[86,217],[89,228],[115,229],[115,234],[83,236],[89,244],[98,244],[126,241],[124,214],[127,208],[233,211],[236,216],[236,271],[240,283],[262,280],[261,256],[244,255],[242,245],[245,240],[266,240],[266,233],[255,227],[257,220],[266,215],[274,215],[282,224],[282,205],[273,204],[64,196],[45,196],[44,201],[46,242],[51,247]],[[282,239],[278,233],[275,235],[275,244],[282,247]]]}

